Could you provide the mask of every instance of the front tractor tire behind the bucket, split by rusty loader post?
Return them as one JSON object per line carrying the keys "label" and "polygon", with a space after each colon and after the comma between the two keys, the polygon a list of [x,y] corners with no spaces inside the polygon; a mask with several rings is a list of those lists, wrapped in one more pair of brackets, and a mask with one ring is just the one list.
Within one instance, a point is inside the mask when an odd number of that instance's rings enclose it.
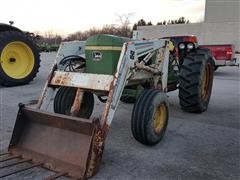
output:
{"label": "front tractor tire behind the bucket, split by rusty loader post", "polygon": [[[75,99],[77,88],[60,87],[54,98],[54,112],[71,115],[71,107]],[[78,117],[88,119],[93,112],[94,96],[90,92],[84,92]]]}

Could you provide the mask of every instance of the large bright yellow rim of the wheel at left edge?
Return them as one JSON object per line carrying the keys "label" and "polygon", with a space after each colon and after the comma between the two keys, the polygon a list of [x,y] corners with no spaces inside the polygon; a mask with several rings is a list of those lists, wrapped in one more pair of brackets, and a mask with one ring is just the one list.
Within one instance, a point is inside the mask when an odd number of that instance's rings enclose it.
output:
{"label": "large bright yellow rim of the wheel at left edge", "polygon": [[27,44],[20,41],[13,41],[4,47],[0,63],[3,71],[9,77],[22,79],[32,72],[34,55]]}

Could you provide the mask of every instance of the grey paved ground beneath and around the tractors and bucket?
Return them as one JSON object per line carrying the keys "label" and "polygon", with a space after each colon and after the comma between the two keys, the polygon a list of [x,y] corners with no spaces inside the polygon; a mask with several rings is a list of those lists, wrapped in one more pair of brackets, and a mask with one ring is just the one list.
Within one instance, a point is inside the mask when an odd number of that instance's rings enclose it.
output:
{"label": "grey paved ground beneath and around the tractors and bucket", "polygon": [[[8,146],[17,104],[38,98],[55,56],[55,53],[41,54],[40,72],[29,85],[0,86],[0,150]],[[106,140],[100,171],[92,179],[240,178],[239,68],[224,67],[215,72],[209,109],[203,114],[181,111],[178,92],[168,95],[168,129],[161,143],[153,147],[134,140],[130,129],[133,105],[120,103]],[[97,111],[100,106],[97,102]],[[34,168],[7,179],[42,179],[49,174]]]}

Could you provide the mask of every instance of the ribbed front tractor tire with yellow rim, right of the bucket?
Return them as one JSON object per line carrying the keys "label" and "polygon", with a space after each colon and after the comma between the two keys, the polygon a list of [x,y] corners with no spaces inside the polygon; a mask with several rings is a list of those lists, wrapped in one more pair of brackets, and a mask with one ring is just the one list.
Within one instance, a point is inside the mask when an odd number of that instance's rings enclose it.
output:
{"label": "ribbed front tractor tire with yellow rim, right of the bucket", "polygon": [[144,90],[134,104],[131,128],[134,138],[145,145],[155,145],[163,138],[168,124],[165,93]]}

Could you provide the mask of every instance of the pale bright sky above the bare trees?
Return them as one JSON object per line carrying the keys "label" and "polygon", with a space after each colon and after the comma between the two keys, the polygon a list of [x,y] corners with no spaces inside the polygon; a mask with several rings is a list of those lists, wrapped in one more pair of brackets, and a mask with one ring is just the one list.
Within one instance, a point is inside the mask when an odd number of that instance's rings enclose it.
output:
{"label": "pale bright sky above the bare trees", "polygon": [[120,25],[119,16],[133,24],[139,19],[159,21],[184,16],[204,19],[205,0],[3,0],[0,22],[31,32],[67,35],[91,27]]}

